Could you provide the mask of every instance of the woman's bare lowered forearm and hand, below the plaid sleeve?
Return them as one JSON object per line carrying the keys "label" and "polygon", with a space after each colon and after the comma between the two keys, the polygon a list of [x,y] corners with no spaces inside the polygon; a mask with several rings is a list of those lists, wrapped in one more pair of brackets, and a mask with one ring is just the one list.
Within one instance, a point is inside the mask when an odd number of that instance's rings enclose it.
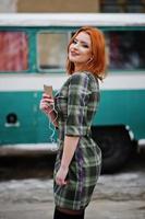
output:
{"label": "woman's bare lowered forearm and hand, below the plaid sleeve", "polygon": [[56,175],[56,183],[58,185],[67,184],[65,177],[69,171],[69,165],[76,150],[78,140],[80,140],[80,137],[77,136],[65,136],[64,138],[64,147],[63,147],[63,153],[62,153],[62,159],[61,159],[61,165]]}

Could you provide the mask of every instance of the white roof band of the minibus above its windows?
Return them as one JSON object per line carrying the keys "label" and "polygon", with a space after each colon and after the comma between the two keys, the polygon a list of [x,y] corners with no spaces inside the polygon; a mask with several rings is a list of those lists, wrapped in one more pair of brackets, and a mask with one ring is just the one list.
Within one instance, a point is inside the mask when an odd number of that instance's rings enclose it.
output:
{"label": "white roof band of the minibus above its windows", "polygon": [[0,26],[145,26],[144,13],[1,13]]}

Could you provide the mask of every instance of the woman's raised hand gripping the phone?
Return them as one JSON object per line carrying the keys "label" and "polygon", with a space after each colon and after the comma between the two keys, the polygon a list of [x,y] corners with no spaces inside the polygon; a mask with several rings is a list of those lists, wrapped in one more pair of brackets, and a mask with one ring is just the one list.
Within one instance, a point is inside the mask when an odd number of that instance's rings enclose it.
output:
{"label": "woman's raised hand gripping the phone", "polygon": [[40,100],[39,108],[47,115],[51,113],[53,108],[53,99],[50,95],[44,93],[43,99]]}

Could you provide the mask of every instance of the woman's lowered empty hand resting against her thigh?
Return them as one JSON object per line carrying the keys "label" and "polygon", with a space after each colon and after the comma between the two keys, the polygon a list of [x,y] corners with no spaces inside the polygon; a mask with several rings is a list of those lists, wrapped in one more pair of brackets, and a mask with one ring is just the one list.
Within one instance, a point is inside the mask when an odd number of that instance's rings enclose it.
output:
{"label": "woman's lowered empty hand resting against her thigh", "polygon": [[69,169],[68,168],[61,168],[58,170],[56,174],[56,183],[58,185],[65,185],[68,182],[65,181],[67,174]]}

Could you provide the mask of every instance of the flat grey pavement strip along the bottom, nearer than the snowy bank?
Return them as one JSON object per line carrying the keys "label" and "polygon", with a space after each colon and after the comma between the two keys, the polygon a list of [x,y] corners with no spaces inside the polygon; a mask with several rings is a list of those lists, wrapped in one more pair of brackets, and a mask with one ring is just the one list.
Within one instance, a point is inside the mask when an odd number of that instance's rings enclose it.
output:
{"label": "flat grey pavement strip along the bottom, nearer than the snowy bank", "polygon": [[[3,206],[2,206],[3,207]],[[16,204],[5,205],[0,219],[52,219],[53,205]],[[86,209],[85,219],[144,219],[145,201],[92,201]]]}

